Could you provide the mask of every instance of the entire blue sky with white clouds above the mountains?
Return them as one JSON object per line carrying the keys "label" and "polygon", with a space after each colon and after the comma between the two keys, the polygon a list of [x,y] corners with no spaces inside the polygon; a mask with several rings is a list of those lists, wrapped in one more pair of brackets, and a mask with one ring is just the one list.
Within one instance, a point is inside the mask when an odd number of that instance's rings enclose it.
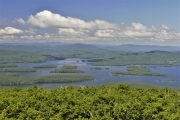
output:
{"label": "entire blue sky with white clouds above the mountains", "polygon": [[0,0],[0,43],[180,45],[180,0]]}

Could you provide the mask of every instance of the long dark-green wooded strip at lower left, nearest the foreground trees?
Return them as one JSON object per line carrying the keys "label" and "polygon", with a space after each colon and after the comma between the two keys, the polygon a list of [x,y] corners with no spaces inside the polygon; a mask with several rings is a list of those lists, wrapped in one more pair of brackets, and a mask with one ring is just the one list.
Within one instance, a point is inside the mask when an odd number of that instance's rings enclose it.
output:
{"label": "long dark-green wooded strip at lower left, nearest the foreground trees", "polygon": [[19,76],[17,74],[0,74],[0,85],[21,85],[36,83],[61,83],[61,82],[80,82],[93,80],[87,75],[51,75],[51,76]]}

